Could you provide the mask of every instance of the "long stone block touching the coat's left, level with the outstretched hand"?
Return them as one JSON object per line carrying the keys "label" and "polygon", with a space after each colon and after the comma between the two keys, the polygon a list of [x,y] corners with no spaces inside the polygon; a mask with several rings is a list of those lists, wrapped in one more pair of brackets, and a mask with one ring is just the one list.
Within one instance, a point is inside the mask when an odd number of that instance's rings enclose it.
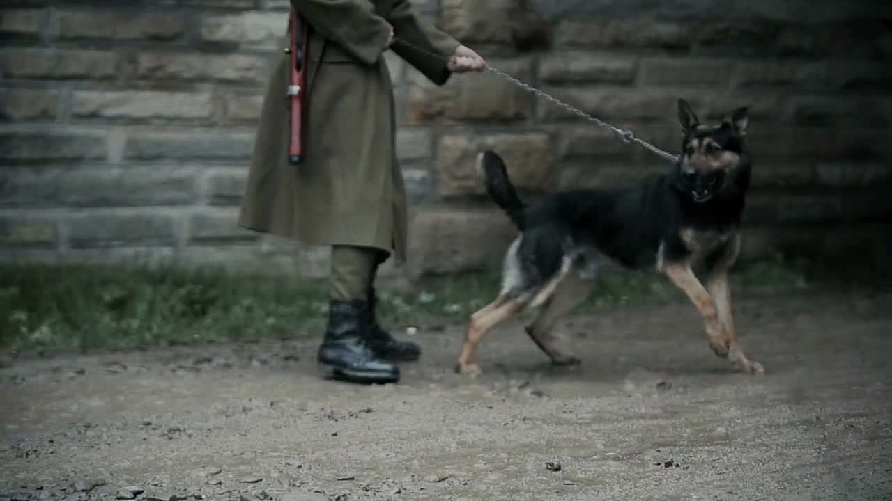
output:
{"label": "long stone block touching the coat's left, level with the outstretched hand", "polygon": [[136,76],[155,80],[264,85],[271,59],[250,54],[140,53]]}

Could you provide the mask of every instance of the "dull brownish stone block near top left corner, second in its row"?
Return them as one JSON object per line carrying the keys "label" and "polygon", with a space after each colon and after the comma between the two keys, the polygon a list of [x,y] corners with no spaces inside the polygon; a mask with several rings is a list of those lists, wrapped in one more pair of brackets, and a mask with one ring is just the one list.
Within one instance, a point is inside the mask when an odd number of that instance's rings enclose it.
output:
{"label": "dull brownish stone block near top left corner, second in its row", "polygon": [[97,9],[59,13],[61,38],[169,40],[182,35],[185,29],[186,19],[174,13]]}

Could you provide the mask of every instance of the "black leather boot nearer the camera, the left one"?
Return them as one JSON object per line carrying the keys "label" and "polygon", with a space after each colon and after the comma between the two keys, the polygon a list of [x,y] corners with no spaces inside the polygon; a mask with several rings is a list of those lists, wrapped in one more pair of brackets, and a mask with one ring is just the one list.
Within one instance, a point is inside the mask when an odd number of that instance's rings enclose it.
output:
{"label": "black leather boot nearer the camera, the left one", "polygon": [[400,368],[379,357],[368,342],[366,301],[332,300],[317,360],[326,379],[380,383],[400,381]]}

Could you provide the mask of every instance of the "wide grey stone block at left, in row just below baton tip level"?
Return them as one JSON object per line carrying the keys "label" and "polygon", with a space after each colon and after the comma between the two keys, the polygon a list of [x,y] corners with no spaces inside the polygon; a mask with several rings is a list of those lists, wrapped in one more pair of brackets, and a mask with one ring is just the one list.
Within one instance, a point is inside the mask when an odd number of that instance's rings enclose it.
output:
{"label": "wide grey stone block at left, in row just below baton tip level", "polygon": [[85,169],[58,178],[58,201],[69,207],[189,205],[197,193],[190,168]]}

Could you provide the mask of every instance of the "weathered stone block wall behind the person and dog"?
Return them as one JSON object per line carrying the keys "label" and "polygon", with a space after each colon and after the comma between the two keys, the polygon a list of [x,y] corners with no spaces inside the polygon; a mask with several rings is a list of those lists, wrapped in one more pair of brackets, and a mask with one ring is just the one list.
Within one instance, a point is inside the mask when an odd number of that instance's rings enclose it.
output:
{"label": "weathered stone block wall behind the person and dog", "polygon": [[[415,4],[491,65],[671,152],[678,97],[701,119],[751,104],[747,257],[889,242],[892,7]],[[4,1],[0,259],[325,275],[325,249],[235,225],[287,9],[282,0]],[[543,38],[547,48],[528,43]],[[402,270],[411,275],[491,266],[513,237],[483,197],[473,165],[482,146],[506,156],[531,199],[629,185],[667,167],[491,73],[437,87],[385,57],[413,204]]]}

